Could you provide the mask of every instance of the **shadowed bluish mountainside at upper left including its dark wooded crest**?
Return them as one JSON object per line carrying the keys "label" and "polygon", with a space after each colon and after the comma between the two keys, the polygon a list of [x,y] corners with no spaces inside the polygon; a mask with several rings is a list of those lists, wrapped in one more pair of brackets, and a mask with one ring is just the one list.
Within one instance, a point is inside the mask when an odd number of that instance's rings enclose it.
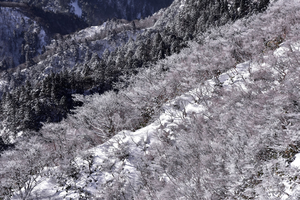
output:
{"label": "shadowed bluish mountainside at upper left including its dark wooded crest", "polygon": [[[44,12],[14,2],[0,2],[0,21],[1,71],[41,54],[54,34],[68,34],[86,27],[85,22],[71,14]],[[27,51],[30,55],[26,59]]]}

